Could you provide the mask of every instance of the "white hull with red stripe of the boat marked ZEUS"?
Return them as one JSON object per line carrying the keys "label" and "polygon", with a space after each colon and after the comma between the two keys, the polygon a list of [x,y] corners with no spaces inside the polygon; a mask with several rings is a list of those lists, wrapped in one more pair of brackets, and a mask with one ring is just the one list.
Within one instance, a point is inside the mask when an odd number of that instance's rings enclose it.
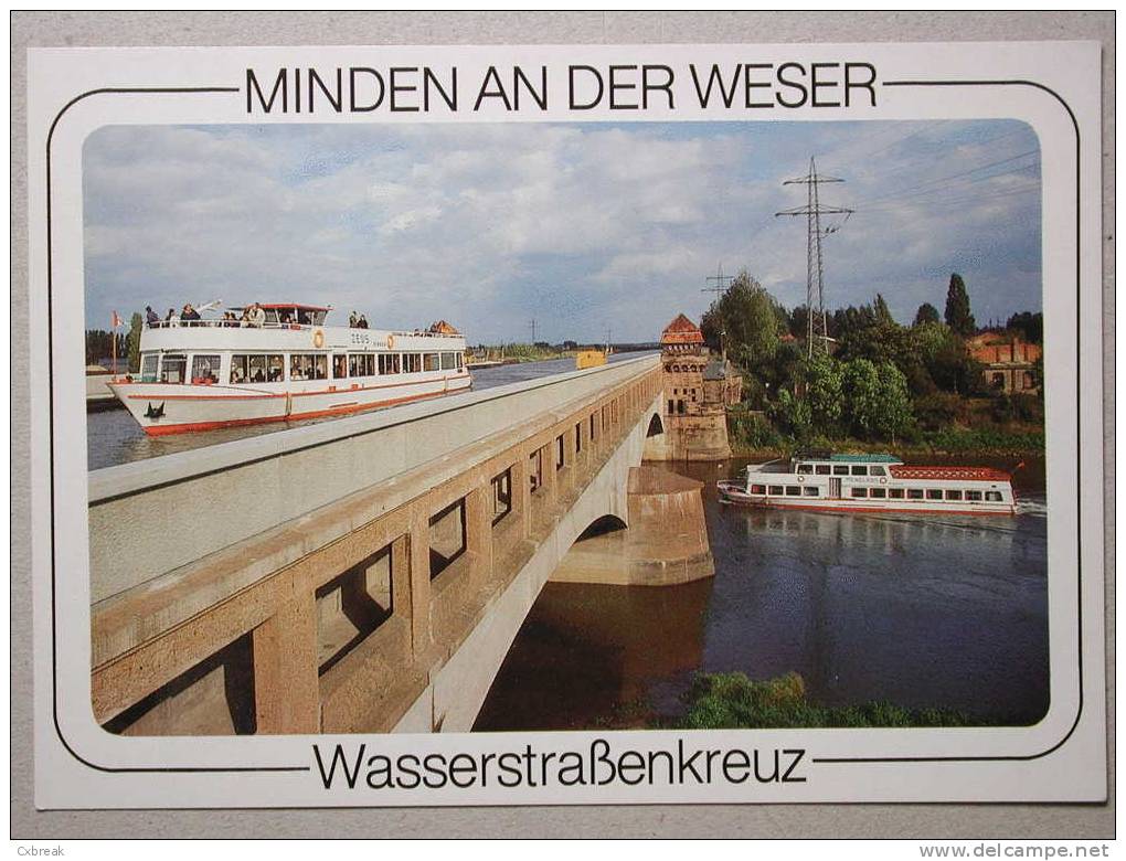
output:
{"label": "white hull with red stripe of the boat marked ZEUS", "polygon": [[109,383],[109,388],[151,437],[298,421],[377,410],[468,391],[468,373],[387,385],[305,388],[287,384],[248,386]]}

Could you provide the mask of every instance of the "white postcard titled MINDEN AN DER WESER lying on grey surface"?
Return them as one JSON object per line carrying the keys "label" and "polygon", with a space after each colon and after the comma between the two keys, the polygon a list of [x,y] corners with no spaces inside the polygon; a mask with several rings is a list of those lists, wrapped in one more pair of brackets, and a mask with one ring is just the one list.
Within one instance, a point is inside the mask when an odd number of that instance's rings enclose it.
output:
{"label": "white postcard titled MINDEN AN DER WESER lying on grey surface", "polygon": [[37,806],[1103,800],[1099,51],[30,50]]}

